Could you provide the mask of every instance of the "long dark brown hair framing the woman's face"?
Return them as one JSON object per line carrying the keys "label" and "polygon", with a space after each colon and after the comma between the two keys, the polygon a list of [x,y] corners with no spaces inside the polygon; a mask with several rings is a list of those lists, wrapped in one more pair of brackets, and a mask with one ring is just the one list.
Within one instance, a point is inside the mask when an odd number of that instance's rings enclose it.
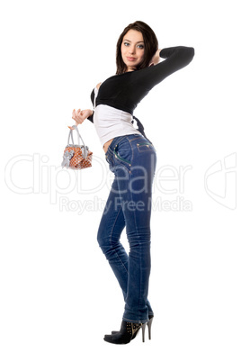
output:
{"label": "long dark brown hair framing the woman's face", "polygon": [[140,64],[138,64],[138,69],[147,68],[149,65],[150,60],[156,53],[158,49],[158,41],[156,39],[156,34],[153,30],[143,22],[135,22],[130,23],[121,33],[119,40],[117,41],[116,45],[116,74],[125,73],[127,70],[127,66],[123,62],[121,57],[121,43],[123,41],[124,36],[126,35],[129,30],[135,30],[142,33],[143,40],[144,40],[144,58]]}

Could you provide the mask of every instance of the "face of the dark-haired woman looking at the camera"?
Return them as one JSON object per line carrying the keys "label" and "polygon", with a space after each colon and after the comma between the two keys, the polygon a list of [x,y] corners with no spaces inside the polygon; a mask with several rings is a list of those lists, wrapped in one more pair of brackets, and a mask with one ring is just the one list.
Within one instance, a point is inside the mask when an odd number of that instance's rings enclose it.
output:
{"label": "face of the dark-haired woman looking at the camera", "polygon": [[144,58],[144,40],[141,32],[129,30],[121,43],[121,56],[127,71],[134,70]]}

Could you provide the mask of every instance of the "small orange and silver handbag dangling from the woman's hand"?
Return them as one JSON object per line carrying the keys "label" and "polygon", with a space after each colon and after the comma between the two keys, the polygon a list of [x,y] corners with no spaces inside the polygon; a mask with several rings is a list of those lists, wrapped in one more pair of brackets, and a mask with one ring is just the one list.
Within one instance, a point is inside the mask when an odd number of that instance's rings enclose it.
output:
{"label": "small orange and silver handbag dangling from the woman's hand", "polygon": [[[92,155],[93,152],[89,150],[88,146],[85,146],[84,140],[82,139],[76,125],[72,126],[78,136],[78,144],[74,143],[73,130],[69,131],[67,139],[67,147],[64,151],[62,167],[72,168],[72,169],[82,169],[87,167],[92,167]],[[69,140],[72,140],[72,143],[69,143]],[[80,140],[82,140],[82,145],[80,145]]]}

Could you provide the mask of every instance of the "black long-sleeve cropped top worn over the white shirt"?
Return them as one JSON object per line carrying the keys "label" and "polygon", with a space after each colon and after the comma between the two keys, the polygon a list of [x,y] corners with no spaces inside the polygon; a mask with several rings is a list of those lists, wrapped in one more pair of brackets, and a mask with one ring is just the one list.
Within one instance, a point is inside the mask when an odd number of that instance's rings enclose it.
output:
{"label": "black long-sleeve cropped top worn over the white shirt", "polygon": [[[156,64],[156,66],[107,78],[99,88],[95,99],[95,107],[105,104],[133,115],[138,103],[154,86],[175,71],[186,67],[192,61],[194,49],[183,46],[164,48],[159,55],[160,58],[165,60]],[[91,99],[94,104],[94,90]],[[93,115],[88,117],[88,120],[94,122]],[[139,131],[145,135],[141,126],[141,123],[138,122]]]}

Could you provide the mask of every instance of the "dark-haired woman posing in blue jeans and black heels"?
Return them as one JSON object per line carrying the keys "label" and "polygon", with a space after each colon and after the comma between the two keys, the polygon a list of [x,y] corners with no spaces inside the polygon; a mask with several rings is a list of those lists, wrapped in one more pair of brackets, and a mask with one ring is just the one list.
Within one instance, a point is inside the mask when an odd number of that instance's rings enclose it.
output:
{"label": "dark-haired woman posing in blue jeans and black heels", "polygon": [[[138,130],[134,127],[133,111],[154,86],[187,66],[193,56],[194,49],[189,47],[158,49],[156,35],[146,23],[131,23],[117,42],[116,75],[94,88],[94,111],[79,109],[72,114],[76,124],[86,118],[94,122],[115,175],[97,235],[125,301],[121,330],[104,336],[110,343],[129,343],[140,328],[144,341],[146,324],[150,339],[154,316],[147,294],[156,149],[137,119]],[[160,58],[165,60],[159,63]],[[124,227],[129,255],[120,242]]]}

